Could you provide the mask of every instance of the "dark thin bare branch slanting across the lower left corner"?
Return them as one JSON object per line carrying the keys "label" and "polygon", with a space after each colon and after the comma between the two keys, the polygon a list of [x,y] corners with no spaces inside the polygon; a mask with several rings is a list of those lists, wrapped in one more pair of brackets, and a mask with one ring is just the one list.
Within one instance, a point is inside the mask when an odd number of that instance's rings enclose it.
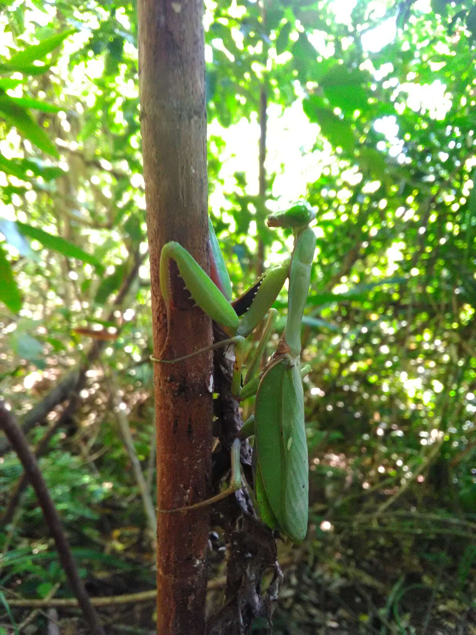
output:
{"label": "dark thin bare branch slanting across the lower left corner", "polygon": [[98,615],[91,604],[88,593],[84,588],[83,580],[79,577],[76,563],[72,556],[63,525],[55,504],[51,500],[50,492],[44,482],[43,475],[38,467],[36,458],[28,446],[28,441],[22,429],[15,421],[10,410],[7,410],[3,402],[0,402],[0,428],[3,429],[10,440],[11,445],[17,452],[18,458],[23,465],[33,489],[35,490],[38,502],[43,510],[44,519],[50,528],[58,551],[58,557],[69,580],[70,587],[77,598],[78,606],[81,607],[84,617],[88,621],[91,632],[94,635],[104,635],[100,625]]}

